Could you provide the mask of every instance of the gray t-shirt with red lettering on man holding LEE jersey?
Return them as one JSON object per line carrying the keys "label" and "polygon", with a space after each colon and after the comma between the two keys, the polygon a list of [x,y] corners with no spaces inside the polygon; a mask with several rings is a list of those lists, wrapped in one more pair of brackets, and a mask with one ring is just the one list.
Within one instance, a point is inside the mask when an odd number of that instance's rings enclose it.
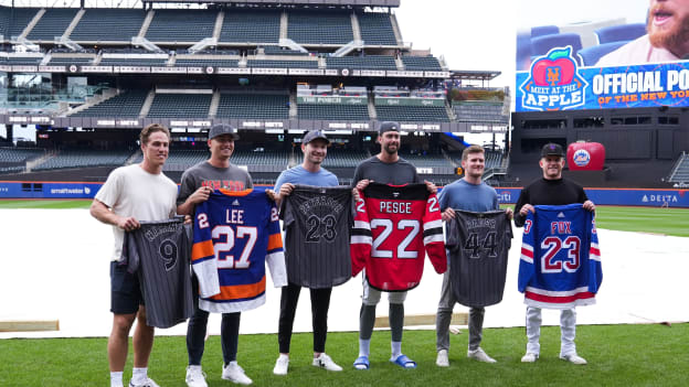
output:
{"label": "gray t-shirt with red lettering on man holding LEE jersey", "polygon": [[253,189],[254,183],[248,172],[234,164],[230,164],[227,168],[218,168],[208,161],[202,161],[182,174],[177,204],[184,203],[194,191],[202,186],[210,186],[213,190],[244,191]]}

